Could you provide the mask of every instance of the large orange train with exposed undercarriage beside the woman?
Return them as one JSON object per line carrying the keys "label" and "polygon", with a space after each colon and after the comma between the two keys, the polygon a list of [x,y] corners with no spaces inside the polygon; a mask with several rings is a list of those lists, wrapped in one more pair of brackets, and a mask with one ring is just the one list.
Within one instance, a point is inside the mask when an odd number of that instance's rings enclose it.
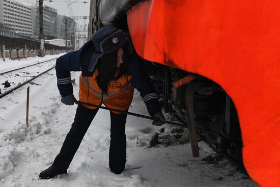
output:
{"label": "large orange train with exposed undercarriage beside the woman", "polygon": [[244,164],[260,186],[280,186],[278,1],[91,0],[89,36],[126,31],[163,109]]}

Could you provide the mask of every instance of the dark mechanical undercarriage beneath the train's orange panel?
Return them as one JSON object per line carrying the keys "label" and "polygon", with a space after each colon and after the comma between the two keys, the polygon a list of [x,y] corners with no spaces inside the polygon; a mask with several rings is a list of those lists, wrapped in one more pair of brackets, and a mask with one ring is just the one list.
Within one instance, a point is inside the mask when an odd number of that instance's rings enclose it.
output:
{"label": "dark mechanical undercarriage beneath the train's orange panel", "polygon": [[207,141],[242,167],[241,131],[230,96],[201,75],[148,61],[143,64],[155,85],[163,111],[183,124],[193,118],[197,138]]}

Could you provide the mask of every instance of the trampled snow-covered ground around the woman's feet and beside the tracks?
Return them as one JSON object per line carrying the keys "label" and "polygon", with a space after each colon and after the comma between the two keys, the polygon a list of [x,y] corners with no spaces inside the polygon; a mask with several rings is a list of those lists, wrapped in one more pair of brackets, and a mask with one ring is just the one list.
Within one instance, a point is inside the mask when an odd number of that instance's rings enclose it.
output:
{"label": "trampled snow-covered ground around the woman's feet and beside the tracks", "polygon": [[[55,57],[9,62],[0,59],[0,72]],[[72,73],[76,97],[78,76],[79,72]],[[110,121],[109,112],[104,110],[99,110],[93,120],[68,174],[41,180],[39,173],[52,164],[60,151],[74,120],[76,105],[61,103],[54,69],[33,82],[0,99],[0,186],[257,186],[235,165],[216,157],[216,152],[203,141],[199,142],[200,157],[193,158],[184,129],[152,126],[150,120],[133,116],[128,116],[126,123],[126,170],[120,175],[111,173],[108,167]],[[28,86],[30,110],[29,127],[26,127]],[[134,94],[129,111],[148,115],[139,93]],[[155,132],[159,133],[161,143],[150,147]],[[203,158],[207,156],[216,160],[206,162]]]}

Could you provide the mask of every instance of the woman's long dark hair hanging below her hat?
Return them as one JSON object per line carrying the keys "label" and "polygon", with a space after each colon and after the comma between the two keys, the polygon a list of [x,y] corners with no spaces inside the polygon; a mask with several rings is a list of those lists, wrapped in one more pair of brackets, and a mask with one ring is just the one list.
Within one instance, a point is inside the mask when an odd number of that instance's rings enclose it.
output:
{"label": "woman's long dark hair hanging below her hat", "polygon": [[98,75],[96,76],[96,82],[98,87],[102,90],[102,93],[107,94],[108,86],[110,81],[117,81],[123,75],[127,75],[127,66],[130,60],[129,55],[124,51],[123,64],[120,67],[120,72],[115,76],[118,63],[118,50],[110,52],[109,54],[103,55],[98,60],[96,69],[98,70]]}

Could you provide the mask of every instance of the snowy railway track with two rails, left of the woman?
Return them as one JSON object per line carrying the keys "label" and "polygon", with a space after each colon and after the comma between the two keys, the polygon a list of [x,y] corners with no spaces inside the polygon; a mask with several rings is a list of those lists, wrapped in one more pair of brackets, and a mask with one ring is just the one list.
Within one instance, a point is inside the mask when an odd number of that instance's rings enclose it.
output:
{"label": "snowy railway track with two rails, left of the woman", "polygon": [[[56,59],[56,58],[51,59],[51,60],[47,60],[47,61],[43,61],[43,62],[39,62],[39,63],[36,63],[36,64],[32,64],[32,65],[29,65],[29,66],[16,68],[16,69],[9,70],[9,71],[6,71],[6,72],[2,72],[2,73],[0,73],[0,75],[4,75],[4,74],[7,74],[7,73],[11,73],[11,72],[17,72],[18,70],[21,70],[21,69],[24,69],[24,68],[28,68],[28,67],[32,67],[32,66],[36,66],[36,65],[39,65],[39,64],[42,64],[42,63],[50,62],[50,61],[53,61],[53,60],[55,60],[55,59]],[[4,93],[0,94],[0,98],[2,98],[2,97],[4,97],[4,96],[6,96],[6,95],[12,93],[14,90],[16,90],[16,89],[22,87],[22,86],[25,85],[25,84],[30,83],[30,82],[33,81],[35,78],[41,76],[42,74],[44,74],[44,73],[50,71],[50,70],[53,69],[53,68],[55,68],[55,65],[53,65],[52,67],[48,68],[47,70],[45,70],[45,71],[43,71],[43,72],[40,72],[40,73],[37,72],[36,75],[30,75],[30,76],[32,76],[32,78],[29,78],[29,79],[25,80],[23,83],[20,83],[20,82],[19,82],[19,84],[17,84],[17,86],[15,86],[15,87],[13,87],[13,88],[11,88],[11,89],[5,91]],[[30,74],[30,73],[28,73],[28,74]],[[16,74],[15,74],[15,75],[16,75]],[[14,75],[14,76],[15,76],[15,75]]]}

